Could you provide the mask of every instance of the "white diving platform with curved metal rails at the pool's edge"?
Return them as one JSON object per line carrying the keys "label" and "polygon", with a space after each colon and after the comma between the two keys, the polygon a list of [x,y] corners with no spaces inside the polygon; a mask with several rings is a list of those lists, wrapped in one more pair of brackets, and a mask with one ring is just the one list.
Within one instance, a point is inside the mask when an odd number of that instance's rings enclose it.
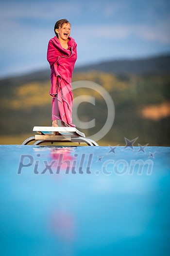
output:
{"label": "white diving platform with curved metal rails at the pool's edge", "polygon": [[52,127],[52,126],[34,126],[33,137],[24,140],[22,145],[27,145],[35,141],[34,145],[40,145],[44,142],[78,142],[86,143],[88,146],[99,146],[94,140],[86,138],[85,134],[77,130],[76,127]]}

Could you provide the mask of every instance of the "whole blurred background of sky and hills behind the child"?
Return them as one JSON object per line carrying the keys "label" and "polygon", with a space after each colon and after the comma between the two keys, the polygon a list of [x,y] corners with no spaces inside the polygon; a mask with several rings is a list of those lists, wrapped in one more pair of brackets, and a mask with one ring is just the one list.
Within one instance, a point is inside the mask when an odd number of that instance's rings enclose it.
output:
{"label": "whole blurred background of sky and hills behind the child", "polygon": [[[33,126],[51,126],[48,41],[56,20],[71,23],[78,44],[72,81],[102,85],[115,104],[115,120],[99,145],[170,145],[170,2],[168,0],[0,1],[0,144],[20,144]],[[74,90],[74,97],[93,90]],[[82,121],[107,117],[104,100],[82,102]]]}

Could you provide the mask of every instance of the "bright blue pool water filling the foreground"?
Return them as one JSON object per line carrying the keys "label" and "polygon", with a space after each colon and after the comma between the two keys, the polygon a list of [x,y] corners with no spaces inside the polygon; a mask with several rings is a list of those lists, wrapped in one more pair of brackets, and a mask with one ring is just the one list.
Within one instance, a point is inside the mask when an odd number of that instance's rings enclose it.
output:
{"label": "bright blue pool water filling the foreground", "polygon": [[0,255],[170,254],[170,148],[0,146]]}

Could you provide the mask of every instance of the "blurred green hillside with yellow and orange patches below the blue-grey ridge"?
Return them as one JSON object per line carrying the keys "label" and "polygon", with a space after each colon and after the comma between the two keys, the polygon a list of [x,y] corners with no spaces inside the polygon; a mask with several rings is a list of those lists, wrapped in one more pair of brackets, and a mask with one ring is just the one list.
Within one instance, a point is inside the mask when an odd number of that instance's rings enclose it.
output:
{"label": "blurred green hillside with yellow and orange patches below the blue-grey ridge", "polygon": [[[138,138],[141,145],[170,145],[170,75],[114,75],[106,72],[75,73],[72,81],[94,81],[104,87],[115,104],[115,120],[102,138],[106,145],[124,144],[124,137]],[[33,126],[51,126],[50,79],[42,81],[0,81],[0,138],[31,133]],[[74,98],[93,95],[96,105],[83,102],[78,116],[82,121],[96,119],[96,125],[81,129],[86,136],[99,131],[107,118],[103,98],[92,89],[74,90]],[[6,138],[6,137],[5,137]],[[102,140],[100,141],[102,143]],[[100,144],[99,142],[99,144]],[[4,143],[4,140],[0,143]],[[6,143],[10,141],[6,140]],[[15,141],[14,143],[17,143]]]}

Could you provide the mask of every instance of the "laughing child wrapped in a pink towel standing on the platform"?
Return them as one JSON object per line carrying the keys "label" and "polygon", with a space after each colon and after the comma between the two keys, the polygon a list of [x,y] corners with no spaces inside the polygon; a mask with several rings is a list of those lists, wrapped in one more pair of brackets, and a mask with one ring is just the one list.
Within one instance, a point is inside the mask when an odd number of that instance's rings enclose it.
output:
{"label": "laughing child wrapped in a pink towel standing on the platform", "polygon": [[72,72],[77,59],[77,44],[70,35],[70,23],[58,20],[54,26],[55,37],[50,39],[47,60],[51,67],[52,126],[75,127],[72,123],[73,95]]}

